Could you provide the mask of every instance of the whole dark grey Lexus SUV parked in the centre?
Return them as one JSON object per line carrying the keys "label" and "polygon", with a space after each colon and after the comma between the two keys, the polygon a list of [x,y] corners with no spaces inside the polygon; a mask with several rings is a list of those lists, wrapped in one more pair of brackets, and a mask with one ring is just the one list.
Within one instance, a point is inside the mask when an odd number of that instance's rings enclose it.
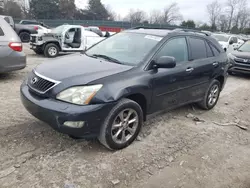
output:
{"label": "whole dark grey Lexus SUV parked in the centre", "polygon": [[194,32],[135,28],[40,64],[21,86],[23,104],[60,132],[127,147],[148,114],[216,105],[228,57],[215,39]]}

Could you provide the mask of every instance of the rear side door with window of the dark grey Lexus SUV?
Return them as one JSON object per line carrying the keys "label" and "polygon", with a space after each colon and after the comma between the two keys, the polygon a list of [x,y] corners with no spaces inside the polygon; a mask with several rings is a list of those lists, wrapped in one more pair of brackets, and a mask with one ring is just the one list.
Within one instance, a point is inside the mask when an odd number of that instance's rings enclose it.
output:
{"label": "rear side door with window of the dark grey Lexus SUV", "polygon": [[206,39],[201,37],[188,37],[190,47],[190,64],[193,67],[194,86],[189,92],[193,101],[203,98],[213,78],[219,62],[214,57],[211,47]]}

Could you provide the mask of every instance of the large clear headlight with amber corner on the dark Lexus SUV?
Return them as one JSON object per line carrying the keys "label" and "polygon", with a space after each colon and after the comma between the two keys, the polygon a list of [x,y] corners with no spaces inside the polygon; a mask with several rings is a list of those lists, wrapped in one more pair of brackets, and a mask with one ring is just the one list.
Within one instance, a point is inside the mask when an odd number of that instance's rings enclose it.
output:
{"label": "large clear headlight with amber corner on the dark Lexus SUV", "polygon": [[101,84],[71,87],[59,93],[56,98],[73,104],[87,105],[101,88]]}

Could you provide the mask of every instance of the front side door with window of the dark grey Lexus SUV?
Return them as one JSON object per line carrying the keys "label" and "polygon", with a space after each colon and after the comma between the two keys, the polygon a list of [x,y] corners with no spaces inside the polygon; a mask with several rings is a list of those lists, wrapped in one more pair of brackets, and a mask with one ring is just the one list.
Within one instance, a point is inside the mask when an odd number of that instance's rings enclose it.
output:
{"label": "front side door with window of the dark grey Lexus SUV", "polygon": [[187,40],[185,37],[169,39],[155,59],[161,56],[172,56],[176,59],[176,67],[159,68],[153,78],[153,98],[151,113],[158,110],[171,109],[190,101],[190,87],[194,85],[193,67],[189,62]]}

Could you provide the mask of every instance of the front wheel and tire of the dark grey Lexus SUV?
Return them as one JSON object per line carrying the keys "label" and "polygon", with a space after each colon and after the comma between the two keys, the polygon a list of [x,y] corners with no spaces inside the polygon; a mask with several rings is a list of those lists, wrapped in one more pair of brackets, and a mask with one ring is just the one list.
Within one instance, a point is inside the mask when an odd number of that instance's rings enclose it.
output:
{"label": "front wheel and tire of the dark grey Lexus SUV", "polygon": [[122,99],[110,111],[98,137],[110,150],[129,146],[138,136],[143,123],[143,111],[135,101]]}

